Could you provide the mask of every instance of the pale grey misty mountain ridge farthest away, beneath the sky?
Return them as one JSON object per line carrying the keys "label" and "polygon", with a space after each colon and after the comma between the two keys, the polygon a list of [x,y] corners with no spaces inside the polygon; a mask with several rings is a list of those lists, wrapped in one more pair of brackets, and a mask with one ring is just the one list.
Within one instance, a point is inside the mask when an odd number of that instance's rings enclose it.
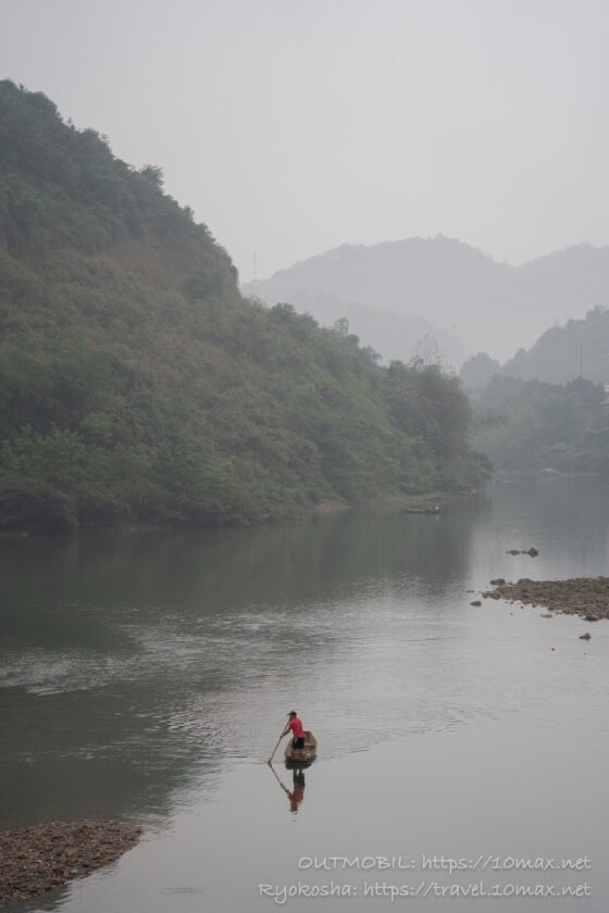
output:
{"label": "pale grey misty mountain ridge farthest away, beneath the sky", "polygon": [[[326,324],[341,308],[339,316],[351,315],[351,329],[386,361],[408,361],[426,325],[458,367],[478,351],[506,361],[548,327],[606,307],[609,248],[582,243],[517,267],[442,235],[343,245],[241,291],[269,305],[289,302]],[[396,315],[405,321],[398,332]]]}

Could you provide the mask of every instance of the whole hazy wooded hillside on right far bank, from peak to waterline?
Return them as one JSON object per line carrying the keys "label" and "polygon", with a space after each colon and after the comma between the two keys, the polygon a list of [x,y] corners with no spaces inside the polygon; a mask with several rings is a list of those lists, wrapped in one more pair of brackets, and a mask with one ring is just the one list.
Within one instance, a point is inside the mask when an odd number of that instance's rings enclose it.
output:
{"label": "whole hazy wooded hillside on right far bank, from peak to waterline", "polygon": [[485,352],[469,359],[460,376],[475,446],[497,468],[609,472],[608,352],[609,311],[596,308],[502,366]]}

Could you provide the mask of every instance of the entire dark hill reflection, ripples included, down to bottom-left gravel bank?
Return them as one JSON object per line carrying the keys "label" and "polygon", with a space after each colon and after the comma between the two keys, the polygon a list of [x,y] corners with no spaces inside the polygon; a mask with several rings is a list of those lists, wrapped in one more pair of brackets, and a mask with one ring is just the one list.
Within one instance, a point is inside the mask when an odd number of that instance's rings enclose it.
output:
{"label": "entire dark hill reflection, ripples included, down to bottom-left gravel bank", "polygon": [[[4,541],[0,780],[21,797],[20,823],[160,814],[202,770],[251,758],[260,689],[281,705],[295,663],[318,690],[333,665],[362,667],[371,606],[397,589],[407,602],[448,592],[484,505]],[[348,695],[336,699],[348,712]]]}

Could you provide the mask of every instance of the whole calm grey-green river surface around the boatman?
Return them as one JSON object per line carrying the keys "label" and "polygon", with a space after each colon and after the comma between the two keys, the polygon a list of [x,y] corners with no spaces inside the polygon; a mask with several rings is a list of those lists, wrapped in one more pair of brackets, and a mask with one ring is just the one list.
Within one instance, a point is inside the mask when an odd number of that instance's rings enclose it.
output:
{"label": "whole calm grey-green river surface around the boatman", "polygon": [[[8,909],[608,909],[609,622],[471,602],[607,574],[609,484],[504,481],[437,517],[0,541],[0,830],[145,828]],[[291,709],[302,777],[264,763]]]}

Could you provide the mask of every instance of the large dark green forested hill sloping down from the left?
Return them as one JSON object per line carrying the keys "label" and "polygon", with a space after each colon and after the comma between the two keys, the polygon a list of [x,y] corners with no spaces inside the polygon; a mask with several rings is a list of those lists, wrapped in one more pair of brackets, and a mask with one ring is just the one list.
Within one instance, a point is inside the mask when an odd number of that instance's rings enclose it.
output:
{"label": "large dark green forested hill sloping down from the left", "polygon": [[437,368],[241,299],[192,213],[0,83],[0,527],[258,522],[487,472]]}

